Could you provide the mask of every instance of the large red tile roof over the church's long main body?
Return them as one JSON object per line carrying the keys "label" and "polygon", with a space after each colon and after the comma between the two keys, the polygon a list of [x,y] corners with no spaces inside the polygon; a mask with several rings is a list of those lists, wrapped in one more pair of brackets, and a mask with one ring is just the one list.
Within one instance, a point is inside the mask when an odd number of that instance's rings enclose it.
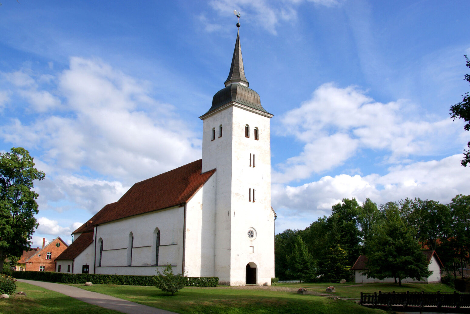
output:
{"label": "large red tile roof over the church's long main body", "polygon": [[93,230],[95,225],[149,213],[188,202],[212,176],[201,173],[202,159],[134,184],[117,202],[104,206],[73,233]]}

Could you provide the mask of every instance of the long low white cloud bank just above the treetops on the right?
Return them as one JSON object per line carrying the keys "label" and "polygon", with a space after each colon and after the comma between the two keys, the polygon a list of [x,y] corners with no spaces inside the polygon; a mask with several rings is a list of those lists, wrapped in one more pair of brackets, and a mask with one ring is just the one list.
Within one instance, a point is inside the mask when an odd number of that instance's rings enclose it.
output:
{"label": "long low white cloud bank just above the treetops on the right", "polygon": [[322,177],[300,186],[273,185],[273,208],[280,216],[278,223],[282,219],[289,221],[291,216],[300,215],[305,217],[305,228],[317,217],[328,216],[331,206],[343,198],[354,197],[360,202],[370,198],[381,204],[406,197],[419,197],[448,203],[459,193],[470,194],[468,175],[462,175],[462,171],[467,169],[460,165],[461,158],[462,154],[456,154],[439,161],[393,166],[383,176],[340,174]]}

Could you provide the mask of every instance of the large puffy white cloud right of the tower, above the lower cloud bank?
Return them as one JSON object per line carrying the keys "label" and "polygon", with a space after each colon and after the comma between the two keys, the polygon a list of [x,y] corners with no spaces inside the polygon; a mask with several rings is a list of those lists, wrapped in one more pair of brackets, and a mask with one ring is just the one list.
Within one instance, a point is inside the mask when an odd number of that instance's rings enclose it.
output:
{"label": "large puffy white cloud right of the tower, above the lower cloud bank", "polygon": [[304,144],[298,156],[276,165],[274,182],[310,177],[343,164],[360,149],[384,152],[382,162],[409,162],[410,156],[446,153],[449,145],[460,147],[456,125],[445,119],[424,116],[406,100],[375,102],[355,86],[321,85],[312,99],[282,118],[282,133]]}

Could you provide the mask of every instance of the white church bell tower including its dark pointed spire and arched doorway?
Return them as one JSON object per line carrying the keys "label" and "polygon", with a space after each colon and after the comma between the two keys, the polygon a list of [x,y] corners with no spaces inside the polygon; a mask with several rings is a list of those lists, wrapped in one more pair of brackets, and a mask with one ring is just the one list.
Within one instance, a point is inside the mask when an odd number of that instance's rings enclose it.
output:
{"label": "white church bell tower including its dark pointed spire and arched doorway", "polygon": [[270,285],[274,277],[269,126],[273,114],[263,108],[245,77],[239,27],[237,23],[225,88],[199,117],[204,121],[202,172],[217,169],[213,188],[204,190],[213,195],[205,199],[215,199],[214,256],[209,263],[220,283]]}

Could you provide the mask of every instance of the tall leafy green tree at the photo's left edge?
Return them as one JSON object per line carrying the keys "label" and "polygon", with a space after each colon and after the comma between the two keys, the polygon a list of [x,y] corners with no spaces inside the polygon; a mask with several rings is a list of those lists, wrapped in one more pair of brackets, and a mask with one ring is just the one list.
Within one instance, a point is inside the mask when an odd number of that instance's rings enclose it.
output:
{"label": "tall leafy green tree at the photo's left edge", "polygon": [[34,168],[33,158],[22,147],[0,153],[0,269],[6,257],[19,257],[30,248],[31,234],[38,227],[38,193],[34,180],[44,172]]}

